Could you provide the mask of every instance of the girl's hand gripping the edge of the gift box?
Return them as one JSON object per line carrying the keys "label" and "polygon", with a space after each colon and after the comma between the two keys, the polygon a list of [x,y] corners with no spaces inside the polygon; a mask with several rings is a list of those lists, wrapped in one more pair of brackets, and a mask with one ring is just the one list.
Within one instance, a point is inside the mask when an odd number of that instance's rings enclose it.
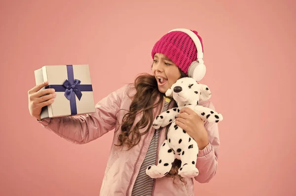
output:
{"label": "girl's hand gripping the edge of the gift box", "polygon": [[37,86],[34,86],[32,89],[28,91],[30,114],[38,120],[41,120],[40,113],[42,107],[52,104],[55,97],[53,88],[40,90],[43,86],[46,86],[47,84],[48,82],[46,81],[45,83],[41,83]]}

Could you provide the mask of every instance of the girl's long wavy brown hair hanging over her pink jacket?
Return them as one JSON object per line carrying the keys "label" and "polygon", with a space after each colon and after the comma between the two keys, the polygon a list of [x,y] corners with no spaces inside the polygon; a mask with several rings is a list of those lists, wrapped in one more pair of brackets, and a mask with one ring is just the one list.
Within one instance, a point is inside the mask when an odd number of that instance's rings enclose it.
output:
{"label": "girl's long wavy brown hair hanging over her pink jacket", "polygon": [[[179,71],[181,74],[180,78],[187,77],[180,68]],[[155,117],[153,116],[153,109],[159,105],[162,106],[162,97],[165,95],[158,90],[155,77],[153,75],[149,75],[148,73],[141,74],[140,76],[136,77],[134,88],[136,89],[136,93],[134,96],[131,96],[132,103],[130,105],[129,111],[123,116],[122,119],[121,132],[118,134],[119,144],[114,144],[116,146],[126,145],[128,149],[137,145],[141,140],[141,136],[147,134],[147,132],[150,130]],[[155,103],[157,98],[159,98],[159,100]],[[173,107],[177,107],[176,102],[174,102]],[[136,116],[141,112],[143,113],[142,118],[133,127]],[[143,129],[145,127],[147,127],[146,131],[141,134],[139,129]],[[170,124],[166,126],[166,139],[169,127]],[[174,181],[176,176],[179,176],[180,180],[185,183],[183,178],[178,175],[178,169],[180,167],[181,161],[175,159],[171,170],[166,176],[174,178]]]}

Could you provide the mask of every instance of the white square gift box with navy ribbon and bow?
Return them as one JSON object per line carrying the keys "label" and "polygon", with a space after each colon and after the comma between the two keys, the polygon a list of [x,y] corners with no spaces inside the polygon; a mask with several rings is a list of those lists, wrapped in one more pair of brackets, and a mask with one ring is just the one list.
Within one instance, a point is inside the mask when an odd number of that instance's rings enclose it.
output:
{"label": "white square gift box with navy ribbon and bow", "polygon": [[41,119],[95,112],[88,65],[47,65],[35,70],[36,85],[48,81],[54,102],[41,110]]}

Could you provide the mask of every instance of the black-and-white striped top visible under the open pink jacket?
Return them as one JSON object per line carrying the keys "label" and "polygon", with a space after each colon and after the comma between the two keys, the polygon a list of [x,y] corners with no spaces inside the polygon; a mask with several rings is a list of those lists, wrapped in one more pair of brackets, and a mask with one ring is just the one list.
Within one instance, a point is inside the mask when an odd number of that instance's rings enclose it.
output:
{"label": "black-and-white striped top visible under the open pink jacket", "polygon": [[[165,112],[168,110],[170,101],[171,100],[169,98],[165,99],[165,104],[162,109],[162,112]],[[156,151],[158,147],[157,145],[158,145],[159,136],[160,136],[160,129],[156,129],[153,134],[153,138],[150,142],[150,145],[148,147],[146,157],[140,168],[140,172],[137,176],[137,179],[132,191],[132,196],[152,196],[154,179],[146,174],[146,169],[148,168],[148,166],[154,165],[156,163]]]}

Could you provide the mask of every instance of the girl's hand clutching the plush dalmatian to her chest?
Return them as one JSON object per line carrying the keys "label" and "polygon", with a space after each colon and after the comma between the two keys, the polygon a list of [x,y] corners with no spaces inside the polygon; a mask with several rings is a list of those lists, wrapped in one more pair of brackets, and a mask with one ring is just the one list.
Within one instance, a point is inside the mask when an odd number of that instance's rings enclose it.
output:
{"label": "girl's hand clutching the plush dalmatian to her chest", "polygon": [[199,150],[208,145],[209,138],[204,127],[204,121],[190,108],[184,108],[180,111],[176,118],[176,125],[185,130],[197,142]]}

